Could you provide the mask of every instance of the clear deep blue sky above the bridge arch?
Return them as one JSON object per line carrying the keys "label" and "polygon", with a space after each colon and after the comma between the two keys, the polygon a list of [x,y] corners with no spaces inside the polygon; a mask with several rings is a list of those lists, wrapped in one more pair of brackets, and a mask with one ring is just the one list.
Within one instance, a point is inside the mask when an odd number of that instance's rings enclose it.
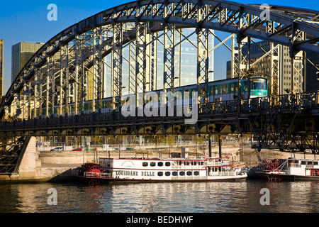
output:
{"label": "clear deep blue sky above the bridge arch", "polygon": [[[125,4],[130,0],[38,0],[38,1],[4,1],[0,4],[0,39],[4,39],[4,94],[11,86],[11,46],[20,42],[45,43],[53,36],[74,23],[82,21],[96,13]],[[319,11],[318,0],[307,1],[274,1],[274,0],[238,0],[242,4],[269,4],[293,6]],[[57,21],[48,21],[49,4],[57,5]],[[220,38],[228,37],[228,33],[216,33]],[[226,49],[216,51],[215,74],[217,79],[225,79],[226,61],[230,55],[224,55]],[[216,56],[215,55],[215,56]]]}

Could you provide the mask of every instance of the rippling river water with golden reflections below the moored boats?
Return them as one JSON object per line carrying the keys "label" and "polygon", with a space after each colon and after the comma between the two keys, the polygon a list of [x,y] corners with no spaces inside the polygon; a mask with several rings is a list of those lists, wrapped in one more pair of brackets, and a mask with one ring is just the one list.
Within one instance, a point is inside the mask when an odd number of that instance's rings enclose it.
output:
{"label": "rippling river water with golden reflections below the moored boats", "polygon": [[[262,189],[269,189],[265,199]],[[54,190],[54,192],[52,192]],[[262,198],[262,199],[261,199]],[[269,201],[269,205],[261,204]],[[55,203],[53,203],[55,201]],[[0,213],[318,213],[319,182],[0,184]]]}

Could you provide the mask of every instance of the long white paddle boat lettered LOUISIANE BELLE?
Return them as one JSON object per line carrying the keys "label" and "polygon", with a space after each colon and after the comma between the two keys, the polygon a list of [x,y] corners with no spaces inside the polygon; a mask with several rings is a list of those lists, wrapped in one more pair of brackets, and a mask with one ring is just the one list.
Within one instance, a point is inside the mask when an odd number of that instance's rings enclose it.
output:
{"label": "long white paddle boat lettered LOUISIANE BELLE", "polygon": [[243,165],[230,165],[229,157],[99,158],[86,164],[80,177],[101,181],[185,182],[245,180]]}

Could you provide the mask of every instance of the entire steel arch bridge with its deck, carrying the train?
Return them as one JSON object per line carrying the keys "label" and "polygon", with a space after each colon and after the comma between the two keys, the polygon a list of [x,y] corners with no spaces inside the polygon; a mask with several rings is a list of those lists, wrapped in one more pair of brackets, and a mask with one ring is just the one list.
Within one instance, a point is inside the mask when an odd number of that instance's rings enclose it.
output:
{"label": "entire steel arch bridge with its deck, carrying the train", "polygon": [[[304,109],[316,113],[318,97],[316,93],[299,94],[297,101],[293,99],[297,93],[304,92],[304,82],[295,79],[303,78],[301,70],[295,70],[293,75],[293,94],[279,96],[276,47],[289,47],[292,68],[304,63],[306,51],[319,54],[318,23],[318,11],[286,6],[270,6],[268,11],[259,5],[205,0],[133,1],[86,18],[45,43],[23,67],[2,99],[0,172],[17,173],[30,136],[39,135],[252,131],[259,138],[259,145],[274,143],[286,149],[282,145],[291,141],[293,125],[281,135],[280,141],[275,140],[281,133],[272,129],[272,123],[277,122],[280,115],[278,110],[294,118]],[[124,65],[128,67],[127,92],[135,94],[136,105],[144,106],[145,101],[139,97],[158,87],[162,87],[163,92],[174,92],[181,79],[177,56],[181,43],[188,40],[182,32],[184,28],[195,28],[196,42],[192,45],[197,48],[194,64],[200,105],[198,122],[185,125],[185,117],[174,116],[121,116],[118,109],[126,89],[123,87]],[[232,47],[226,47],[232,55],[232,77],[239,82],[250,74],[249,60],[242,54],[242,47],[252,38],[274,43],[267,52],[272,59],[268,99],[208,102],[208,54],[211,51],[208,40],[214,35],[213,30],[232,34],[229,37]],[[157,75],[159,42],[163,46],[162,75]],[[214,48],[219,45],[225,45],[225,40],[220,40]],[[124,50],[128,50],[128,57],[123,55]],[[110,77],[108,95],[112,101],[108,107],[113,110],[110,113],[103,113],[106,74]],[[157,76],[162,77],[159,86]],[[91,113],[85,111],[88,101]],[[316,135],[312,136],[317,141]]]}

